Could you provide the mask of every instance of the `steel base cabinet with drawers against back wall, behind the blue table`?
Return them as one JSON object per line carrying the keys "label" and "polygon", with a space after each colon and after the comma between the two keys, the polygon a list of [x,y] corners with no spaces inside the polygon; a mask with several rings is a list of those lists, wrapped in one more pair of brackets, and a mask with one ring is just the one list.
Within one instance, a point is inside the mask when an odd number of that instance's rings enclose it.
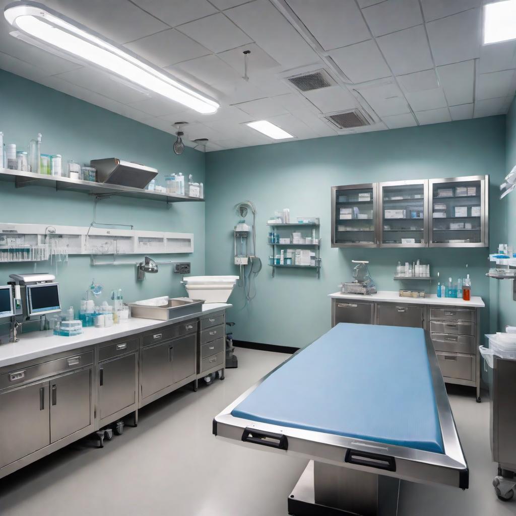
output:
{"label": "steel base cabinet with drawers against back wall, behind the blue table", "polygon": [[430,333],[444,381],[476,388],[480,401],[479,308],[401,301],[332,298],[332,327],[339,322],[423,328]]}

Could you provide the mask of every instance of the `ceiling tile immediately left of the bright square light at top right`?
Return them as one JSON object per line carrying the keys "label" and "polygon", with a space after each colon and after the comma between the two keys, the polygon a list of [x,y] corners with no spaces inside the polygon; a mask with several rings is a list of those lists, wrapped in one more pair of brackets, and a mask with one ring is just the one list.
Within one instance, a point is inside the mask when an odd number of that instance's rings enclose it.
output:
{"label": "ceiling tile immediately left of the bright square light at top right", "polygon": [[476,59],[480,46],[480,9],[471,9],[426,24],[437,66]]}

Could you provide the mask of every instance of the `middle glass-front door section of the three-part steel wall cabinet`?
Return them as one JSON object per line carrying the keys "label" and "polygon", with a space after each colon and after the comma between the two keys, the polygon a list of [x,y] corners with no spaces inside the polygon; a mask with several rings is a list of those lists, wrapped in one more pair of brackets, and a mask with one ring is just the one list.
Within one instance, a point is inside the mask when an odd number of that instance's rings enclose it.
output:
{"label": "middle glass-front door section of the three-part steel wall cabinet", "polygon": [[428,181],[378,183],[380,247],[428,246]]}

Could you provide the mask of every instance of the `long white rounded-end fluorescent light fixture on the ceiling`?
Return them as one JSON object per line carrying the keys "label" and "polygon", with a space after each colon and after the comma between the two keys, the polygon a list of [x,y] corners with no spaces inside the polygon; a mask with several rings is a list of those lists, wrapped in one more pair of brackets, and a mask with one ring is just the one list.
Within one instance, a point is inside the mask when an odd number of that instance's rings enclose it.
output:
{"label": "long white rounded-end fluorescent light fixture on the ceiling", "polygon": [[179,102],[200,113],[214,113],[219,104],[179,83],[136,55],[36,2],[13,2],[4,15],[15,28],[109,73]]}

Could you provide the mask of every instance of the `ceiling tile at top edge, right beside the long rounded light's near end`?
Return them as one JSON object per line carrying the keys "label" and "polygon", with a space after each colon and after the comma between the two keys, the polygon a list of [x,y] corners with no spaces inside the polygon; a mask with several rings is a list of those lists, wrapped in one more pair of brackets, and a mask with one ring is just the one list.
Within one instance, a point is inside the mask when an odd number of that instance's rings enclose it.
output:
{"label": "ceiling tile at top edge, right beside the long rounded light's near end", "polygon": [[168,28],[127,0],[46,0],[45,5],[117,43],[134,41]]}

